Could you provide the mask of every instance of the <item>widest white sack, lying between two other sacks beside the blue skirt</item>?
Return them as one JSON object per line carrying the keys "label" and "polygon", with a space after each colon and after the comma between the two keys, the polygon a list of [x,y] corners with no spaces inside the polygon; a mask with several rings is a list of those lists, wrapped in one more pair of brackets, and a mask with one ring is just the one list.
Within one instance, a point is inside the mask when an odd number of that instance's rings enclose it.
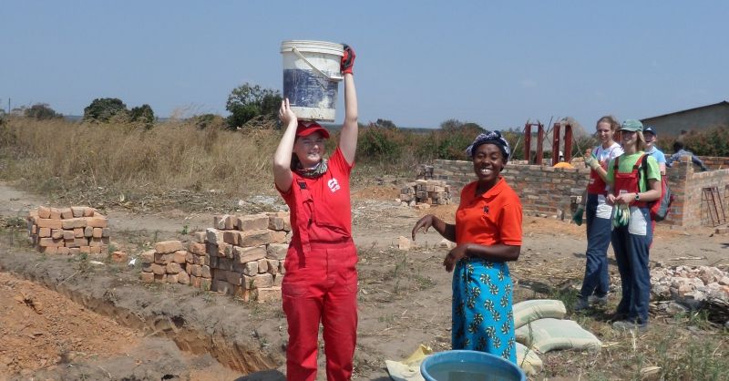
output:
{"label": "widest white sack, lying between two other sacks beside the blue skirt", "polygon": [[600,339],[571,320],[539,319],[516,330],[517,341],[539,353],[555,349],[600,350]]}

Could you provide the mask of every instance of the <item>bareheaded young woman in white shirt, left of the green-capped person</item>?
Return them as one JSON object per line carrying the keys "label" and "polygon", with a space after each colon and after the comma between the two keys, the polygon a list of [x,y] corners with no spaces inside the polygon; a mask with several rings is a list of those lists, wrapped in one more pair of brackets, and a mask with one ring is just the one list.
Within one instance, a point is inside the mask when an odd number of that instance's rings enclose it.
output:
{"label": "bareheaded young woman in white shirt, left of the green-capped person", "polygon": [[[601,144],[585,155],[585,165],[590,167],[587,186],[587,250],[585,251],[585,277],[574,310],[580,311],[590,304],[606,304],[610,288],[608,277],[608,246],[611,236],[612,206],[605,202],[608,185],[608,163],[622,154],[621,145],[613,136],[620,122],[611,116],[598,119],[596,135]],[[580,211],[581,213],[581,211]]]}

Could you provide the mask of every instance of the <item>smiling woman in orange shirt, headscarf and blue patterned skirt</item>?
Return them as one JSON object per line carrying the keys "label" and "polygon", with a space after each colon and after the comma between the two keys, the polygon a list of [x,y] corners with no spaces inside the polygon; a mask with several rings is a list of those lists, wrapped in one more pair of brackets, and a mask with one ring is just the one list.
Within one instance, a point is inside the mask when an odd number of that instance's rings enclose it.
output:
{"label": "smiling woman in orange shirt, headscarf and blue patterned skirt", "polygon": [[511,149],[499,131],[480,134],[466,150],[477,180],[461,190],[456,224],[432,214],[416,232],[433,227],[457,243],[443,261],[453,273],[453,349],[470,349],[517,362],[509,261],[521,252],[521,201],[500,176]]}

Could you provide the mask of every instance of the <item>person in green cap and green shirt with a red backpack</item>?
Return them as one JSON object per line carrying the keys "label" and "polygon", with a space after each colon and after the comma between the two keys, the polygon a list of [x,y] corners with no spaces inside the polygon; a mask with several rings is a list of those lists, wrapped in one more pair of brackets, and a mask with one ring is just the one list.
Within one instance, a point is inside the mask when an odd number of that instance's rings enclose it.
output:
{"label": "person in green cap and green shirt with a red backpack", "polygon": [[[613,328],[648,328],[648,303],[651,298],[651,273],[648,256],[652,242],[649,202],[661,197],[661,170],[646,147],[639,120],[621,124],[624,153],[611,160],[606,180],[607,203],[613,205],[611,242],[621,274],[622,297]],[[643,168],[647,166],[647,168]]]}

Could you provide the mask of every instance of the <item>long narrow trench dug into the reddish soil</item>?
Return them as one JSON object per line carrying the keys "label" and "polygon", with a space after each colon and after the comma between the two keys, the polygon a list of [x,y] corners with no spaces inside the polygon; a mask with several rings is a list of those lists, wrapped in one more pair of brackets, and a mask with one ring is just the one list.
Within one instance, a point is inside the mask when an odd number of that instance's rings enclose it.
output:
{"label": "long narrow trench dug into the reddish soil", "polygon": [[258,346],[245,346],[233,342],[220,333],[207,334],[203,329],[196,329],[186,324],[184,316],[139,316],[127,308],[111,304],[102,298],[90,296],[72,290],[63,284],[56,284],[45,277],[37,277],[30,273],[15,273],[15,276],[43,285],[49,290],[60,293],[90,311],[108,316],[118,324],[128,326],[146,333],[165,337],[180,348],[193,355],[210,354],[222,366],[226,366],[242,375],[268,370],[277,366],[270,355],[266,355]]}

